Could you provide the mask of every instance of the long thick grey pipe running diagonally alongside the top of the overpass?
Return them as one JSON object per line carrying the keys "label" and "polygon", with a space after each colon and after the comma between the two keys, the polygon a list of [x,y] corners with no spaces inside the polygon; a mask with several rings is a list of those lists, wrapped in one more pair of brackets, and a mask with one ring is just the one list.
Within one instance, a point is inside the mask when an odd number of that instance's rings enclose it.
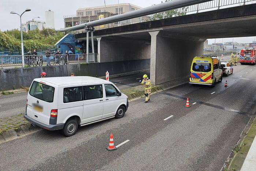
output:
{"label": "long thick grey pipe running diagonally alongside the top of the overpass", "polygon": [[67,27],[64,29],[59,29],[56,31],[80,30],[80,29],[84,29],[85,27],[94,27],[94,26],[114,23],[114,22],[123,21],[123,20],[127,20],[127,19],[137,18],[140,16],[156,14],[158,12],[182,8],[182,7],[186,7],[189,5],[200,4],[200,3],[207,2],[207,1],[211,1],[211,0],[172,0],[172,1],[165,2],[165,3],[153,5],[150,7],[141,8],[139,10],[126,12],[126,13],[123,13],[120,15],[110,16],[108,18],[98,19],[95,21],[81,24],[81,25]]}

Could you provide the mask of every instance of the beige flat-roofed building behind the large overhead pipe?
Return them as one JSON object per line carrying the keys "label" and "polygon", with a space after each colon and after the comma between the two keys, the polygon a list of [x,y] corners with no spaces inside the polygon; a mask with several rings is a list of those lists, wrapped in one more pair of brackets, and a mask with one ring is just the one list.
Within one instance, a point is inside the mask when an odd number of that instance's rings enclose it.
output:
{"label": "beige flat-roofed building behind the large overhead pipe", "polygon": [[[137,5],[133,5],[130,3],[119,4],[119,14],[138,10],[138,9],[141,9],[141,7],[138,7]],[[98,7],[79,8],[76,11],[76,13],[77,13],[76,15],[63,16],[65,28],[87,23],[89,21],[94,21],[99,18],[107,18],[110,16],[118,15],[118,4],[112,4],[112,5],[106,5],[106,6],[103,5]],[[122,25],[125,23],[120,22],[119,24]],[[104,26],[101,26],[101,27],[104,27]]]}

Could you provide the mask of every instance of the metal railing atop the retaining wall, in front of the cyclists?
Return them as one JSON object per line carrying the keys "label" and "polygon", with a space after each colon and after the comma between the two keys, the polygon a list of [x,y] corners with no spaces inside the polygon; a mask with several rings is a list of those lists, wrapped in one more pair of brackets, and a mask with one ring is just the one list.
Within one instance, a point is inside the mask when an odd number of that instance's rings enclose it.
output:
{"label": "metal railing atop the retaining wall, in front of the cyclists", "polygon": [[[81,63],[94,63],[99,61],[98,53],[87,54],[60,54],[60,55],[24,55],[25,66],[52,66],[52,65],[67,65],[67,64],[81,64]],[[4,55],[0,56],[0,66],[4,67],[21,67],[21,55]]]}

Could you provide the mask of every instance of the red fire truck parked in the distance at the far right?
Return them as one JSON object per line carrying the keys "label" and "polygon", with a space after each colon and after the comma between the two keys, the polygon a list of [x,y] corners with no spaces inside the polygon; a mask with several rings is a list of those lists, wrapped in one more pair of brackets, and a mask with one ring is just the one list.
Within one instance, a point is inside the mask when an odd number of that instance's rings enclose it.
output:
{"label": "red fire truck parked in the distance at the far right", "polygon": [[255,54],[256,54],[256,49],[255,48],[246,48],[241,49],[240,52],[240,63],[241,64],[256,64],[255,61]]}

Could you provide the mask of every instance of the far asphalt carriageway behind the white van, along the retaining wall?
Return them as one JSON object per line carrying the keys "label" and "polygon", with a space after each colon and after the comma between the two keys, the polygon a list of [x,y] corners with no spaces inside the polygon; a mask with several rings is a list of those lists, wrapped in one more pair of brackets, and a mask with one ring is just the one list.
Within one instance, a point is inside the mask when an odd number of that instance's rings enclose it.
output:
{"label": "far asphalt carriageway behind the white van, along the retaining wall", "polygon": [[[146,70],[143,73],[137,72],[129,75],[120,75],[113,78],[111,78],[110,75],[110,81],[115,83],[120,90],[123,90],[140,85],[139,80],[142,79],[143,74],[149,75],[150,71]],[[27,92],[0,96],[0,118],[24,114],[26,99]]]}

